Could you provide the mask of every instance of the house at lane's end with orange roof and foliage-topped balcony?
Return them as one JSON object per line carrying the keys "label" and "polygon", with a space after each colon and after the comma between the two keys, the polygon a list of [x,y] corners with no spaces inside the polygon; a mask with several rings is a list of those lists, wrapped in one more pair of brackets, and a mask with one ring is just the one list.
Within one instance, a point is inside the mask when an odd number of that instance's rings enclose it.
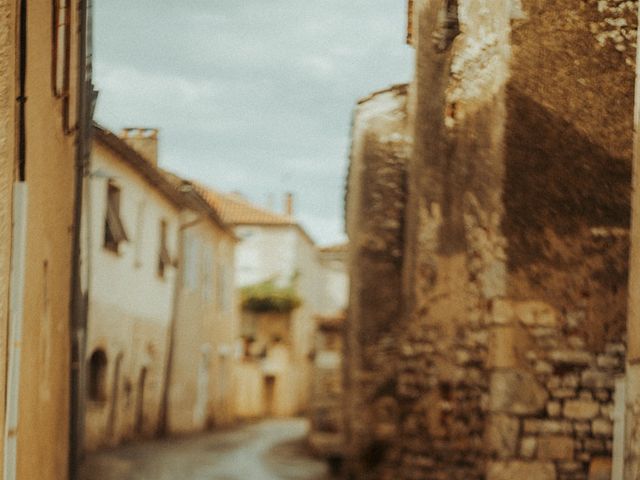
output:
{"label": "house at lane's end with orange roof and foliage-topped balcony", "polygon": [[209,189],[208,199],[240,239],[237,287],[284,297],[289,303],[265,307],[258,302],[255,308],[243,308],[237,414],[243,418],[299,414],[308,407],[315,316],[323,295],[315,243],[295,221],[291,196],[285,199],[283,214],[252,205],[237,194]]}

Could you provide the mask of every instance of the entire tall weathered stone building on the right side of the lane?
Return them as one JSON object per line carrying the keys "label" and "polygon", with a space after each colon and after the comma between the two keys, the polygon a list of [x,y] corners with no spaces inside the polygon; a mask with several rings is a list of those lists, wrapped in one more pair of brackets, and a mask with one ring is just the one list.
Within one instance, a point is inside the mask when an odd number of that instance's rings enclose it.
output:
{"label": "entire tall weathered stone building on the right side of the lane", "polygon": [[[411,138],[405,166],[354,175],[380,168],[360,132],[389,110],[372,121],[359,106],[353,129],[355,478],[611,475],[637,25],[637,5],[618,3],[412,2],[416,74],[393,127]],[[364,138],[375,152],[391,136]],[[403,168],[405,188],[389,188]],[[375,220],[367,192],[389,213]],[[380,246],[369,267],[362,245]],[[376,268],[393,275],[372,280]],[[367,291],[399,299],[376,324]]]}

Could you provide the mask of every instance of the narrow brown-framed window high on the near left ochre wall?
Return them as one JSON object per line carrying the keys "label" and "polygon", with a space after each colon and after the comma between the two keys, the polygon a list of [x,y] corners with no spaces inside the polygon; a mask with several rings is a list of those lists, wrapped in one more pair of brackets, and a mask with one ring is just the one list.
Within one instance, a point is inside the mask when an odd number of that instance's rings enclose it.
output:
{"label": "narrow brown-framed window high on the near left ochre wall", "polygon": [[53,0],[51,83],[53,93],[63,101],[64,130],[69,129],[71,69],[71,5],[70,0]]}

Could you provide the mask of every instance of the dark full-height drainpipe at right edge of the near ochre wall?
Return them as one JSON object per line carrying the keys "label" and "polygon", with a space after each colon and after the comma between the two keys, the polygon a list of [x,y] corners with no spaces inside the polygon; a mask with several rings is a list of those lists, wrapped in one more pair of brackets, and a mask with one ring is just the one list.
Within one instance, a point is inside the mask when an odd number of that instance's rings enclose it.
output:
{"label": "dark full-height drainpipe at right edge of the near ochre wall", "polygon": [[[82,458],[84,432],[84,358],[87,330],[87,297],[89,281],[89,261],[82,262],[82,205],[84,183],[89,172],[91,137],[93,131],[93,111],[97,92],[92,79],[92,7],[91,0],[78,2],[78,130],[75,158],[73,239],[71,251],[71,300],[70,300],[70,418],[69,418],[69,479],[78,478],[78,468]],[[87,225],[87,231],[90,225]],[[89,242],[87,242],[89,243]],[[86,247],[86,245],[85,245]],[[87,251],[87,255],[90,252]],[[88,257],[87,257],[88,258]],[[85,291],[83,292],[83,280]]]}

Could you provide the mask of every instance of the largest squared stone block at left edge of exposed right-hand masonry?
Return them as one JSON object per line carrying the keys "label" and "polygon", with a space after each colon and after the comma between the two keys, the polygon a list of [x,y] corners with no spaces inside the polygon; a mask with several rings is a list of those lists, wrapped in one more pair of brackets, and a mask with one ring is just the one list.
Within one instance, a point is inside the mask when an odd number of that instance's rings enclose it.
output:
{"label": "largest squared stone block at left edge of exposed right-hand masonry", "polygon": [[492,412],[515,415],[542,413],[548,396],[547,390],[528,372],[506,370],[491,375]]}

